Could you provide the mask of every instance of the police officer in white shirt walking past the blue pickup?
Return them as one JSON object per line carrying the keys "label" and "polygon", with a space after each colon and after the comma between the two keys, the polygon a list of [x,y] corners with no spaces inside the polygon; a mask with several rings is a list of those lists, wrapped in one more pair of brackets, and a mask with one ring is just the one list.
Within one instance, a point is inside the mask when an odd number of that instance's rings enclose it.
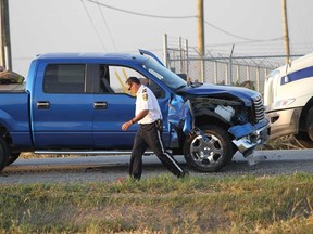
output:
{"label": "police officer in white shirt walking past the blue pickup", "polygon": [[129,176],[135,180],[140,180],[142,155],[150,147],[174,176],[183,178],[186,171],[163,147],[161,138],[163,125],[158,126],[158,122],[162,120],[162,113],[156,98],[148,87],[140,83],[137,77],[129,77],[126,84],[128,90],[137,96],[136,113],[133,119],[123,123],[122,130],[126,131],[135,122],[139,123],[130,156]]}

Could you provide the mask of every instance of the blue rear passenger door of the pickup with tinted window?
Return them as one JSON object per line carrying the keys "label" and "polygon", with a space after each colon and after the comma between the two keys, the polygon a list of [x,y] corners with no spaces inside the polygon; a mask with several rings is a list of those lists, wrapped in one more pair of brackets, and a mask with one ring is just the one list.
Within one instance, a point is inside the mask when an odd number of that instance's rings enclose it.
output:
{"label": "blue rear passenger door of the pickup with tinted window", "polygon": [[86,64],[40,64],[32,94],[33,139],[40,147],[92,145],[92,93]]}

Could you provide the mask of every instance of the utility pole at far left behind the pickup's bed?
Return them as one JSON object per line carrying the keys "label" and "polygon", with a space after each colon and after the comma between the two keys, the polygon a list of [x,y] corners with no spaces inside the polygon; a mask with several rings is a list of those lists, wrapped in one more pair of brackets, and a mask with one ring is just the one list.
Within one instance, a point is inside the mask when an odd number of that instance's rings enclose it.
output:
{"label": "utility pole at far left behind the pickup's bed", "polygon": [[9,0],[0,0],[0,65],[3,65],[7,69],[12,70]]}

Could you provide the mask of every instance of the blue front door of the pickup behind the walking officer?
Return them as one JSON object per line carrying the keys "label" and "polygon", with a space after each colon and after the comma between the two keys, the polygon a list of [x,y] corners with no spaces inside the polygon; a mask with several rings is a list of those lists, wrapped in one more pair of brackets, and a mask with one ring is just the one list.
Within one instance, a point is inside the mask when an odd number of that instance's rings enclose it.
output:
{"label": "blue front door of the pickup behind the walking officer", "polygon": [[[134,136],[138,129],[138,123],[133,125],[127,131],[122,130],[122,125],[134,118],[136,96],[128,93],[125,81],[129,76],[136,76],[145,84],[155,91],[159,96],[161,109],[164,112],[163,119],[167,121],[167,102],[165,92],[160,87],[153,87],[148,83],[140,73],[128,67],[100,64],[93,77],[93,103],[98,105],[95,108],[93,116],[93,141],[99,148],[132,148]],[[103,72],[104,70],[104,72]],[[102,74],[102,75],[101,75]],[[104,82],[103,82],[104,80]],[[109,88],[108,88],[109,87]],[[165,125],[163,139],[165,145],[168,142],[168,127]]]}

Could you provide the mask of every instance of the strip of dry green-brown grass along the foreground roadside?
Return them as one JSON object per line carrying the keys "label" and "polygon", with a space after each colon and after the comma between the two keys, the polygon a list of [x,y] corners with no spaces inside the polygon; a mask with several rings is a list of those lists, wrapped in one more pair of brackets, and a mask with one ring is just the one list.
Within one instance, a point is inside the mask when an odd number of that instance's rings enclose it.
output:
{"label": "strip of dry green-brown grass along the foreground roadside", "polygon": [[0,233],[310,233],[313,176],[7,185]]}

